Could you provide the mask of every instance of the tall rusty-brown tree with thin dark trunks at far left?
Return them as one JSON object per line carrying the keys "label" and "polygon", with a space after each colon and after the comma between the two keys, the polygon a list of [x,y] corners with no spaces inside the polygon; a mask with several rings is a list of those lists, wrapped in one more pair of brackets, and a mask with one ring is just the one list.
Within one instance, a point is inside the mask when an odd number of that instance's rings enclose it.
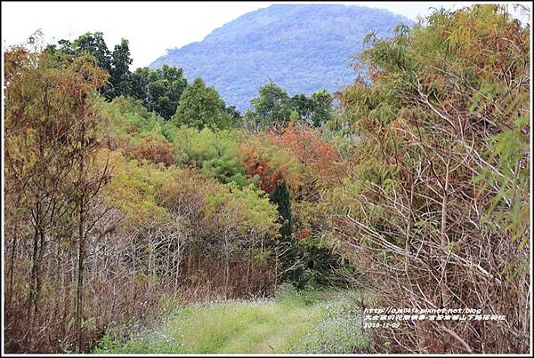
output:
{"label": "tall rusty-brown tree with thin dark trunks at far left", "polygon": [[94,99],[108,74],[94,67],[87,56],[61,61],[50,52],[24,47],[10,49],[4,60],[6,178],[8,186],[23,197],[19,203],[26,206],[33,228],[28,332],[35,329],[33,323],[40,314],[48,247],[77,243],[75,330],[80,351],[85,237],[101,219],[88,213],[88,205],[109,174],[107,167],[99,173],[91,165],[101,123]]}

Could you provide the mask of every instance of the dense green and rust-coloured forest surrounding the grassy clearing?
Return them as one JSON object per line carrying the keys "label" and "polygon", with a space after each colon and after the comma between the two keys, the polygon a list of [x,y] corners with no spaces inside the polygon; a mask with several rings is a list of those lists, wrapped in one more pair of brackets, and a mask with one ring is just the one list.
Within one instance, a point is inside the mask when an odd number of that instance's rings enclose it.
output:
{"label": "dense green and rust-coloured forest surrounding the grassy clearing", "polygon": [[99,32],[4,52],[6,352],[87,353],[169,306],[280,287],[506,317],[341,353],[528,352],[530,24],[435,10],[369,33],[343,91],[267,81],[244,114],[131,62]]}

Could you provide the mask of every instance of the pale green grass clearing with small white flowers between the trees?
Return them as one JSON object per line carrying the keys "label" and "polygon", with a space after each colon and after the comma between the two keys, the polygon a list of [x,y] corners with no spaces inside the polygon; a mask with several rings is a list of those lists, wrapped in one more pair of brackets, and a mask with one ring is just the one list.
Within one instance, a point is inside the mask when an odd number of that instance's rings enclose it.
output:
{"label": "pale green grass clearing with small white flowers between the trees", "polygon": [[185,306],[128,340],[105,336],[93,353],[358,353],[369,338],[355,295],[287,286],[271,299]]}

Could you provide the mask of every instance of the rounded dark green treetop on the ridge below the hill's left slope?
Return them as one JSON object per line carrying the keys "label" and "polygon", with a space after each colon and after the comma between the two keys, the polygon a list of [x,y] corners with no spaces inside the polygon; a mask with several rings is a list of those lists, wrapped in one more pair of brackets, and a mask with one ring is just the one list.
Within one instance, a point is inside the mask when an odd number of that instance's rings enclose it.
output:
{"label": "rounded dark green treetop on the ridge below the hill's left slope", "polygon": [[224,101],[219,93],[197,78],[183,91],[172,122],[177,126],[185,124],[198,130],[205,127],[216,130],[227,128],[231,117],[224,113]]}

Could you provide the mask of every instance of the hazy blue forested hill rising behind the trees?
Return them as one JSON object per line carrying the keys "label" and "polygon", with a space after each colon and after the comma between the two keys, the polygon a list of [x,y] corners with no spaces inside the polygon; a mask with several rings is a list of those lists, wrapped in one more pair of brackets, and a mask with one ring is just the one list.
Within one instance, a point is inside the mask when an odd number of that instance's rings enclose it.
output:
{"label": "hazy blue forested hill rising behind the trees", "polygon": [[183,68],[189,81],[202,77],[243,111],[271,78],[289,94],[352,83],[349,58],[372,29],[381,35],[413,21],[392,12],[340,4],[274,4],[248,12],[199,43],[169,50],[150,64]]}

